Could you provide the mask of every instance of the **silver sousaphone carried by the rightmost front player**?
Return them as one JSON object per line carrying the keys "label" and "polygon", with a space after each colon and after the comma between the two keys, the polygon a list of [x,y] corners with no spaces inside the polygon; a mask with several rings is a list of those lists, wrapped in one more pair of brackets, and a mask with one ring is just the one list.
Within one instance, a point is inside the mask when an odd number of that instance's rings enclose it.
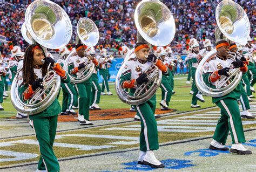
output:
{"label": "silver sousaphone carried by the rightmost front player", "polygon": [[[215,29],[215,38],[216,42],[219,40],[226,40],[230,42],[236,42],[242,45],[247,43],[247,37],[250,32],[247,31],[250,23],[248,22],[248,17],[245,11],[241,8],[240,5],[233,1],[223,1],[220,2],[217,6],[215,12],[218,28]],[[247,35],[246,35],[247,34]],[[229,77],[222,76],[215,88],[208,86],[203,80],[204,67],[208,59],[215,56],[217,50],[214,49],[206,54],[204,58],[200,61],[197,71],[196,71],[196,85],[198,90],[210,97],[222,97],[234,90],[238,86],[242,72],[239,68],[234,68],[231,64],[228,66],[230,68]],[[237,58],[237,54],[230,53],[234,60]]]}

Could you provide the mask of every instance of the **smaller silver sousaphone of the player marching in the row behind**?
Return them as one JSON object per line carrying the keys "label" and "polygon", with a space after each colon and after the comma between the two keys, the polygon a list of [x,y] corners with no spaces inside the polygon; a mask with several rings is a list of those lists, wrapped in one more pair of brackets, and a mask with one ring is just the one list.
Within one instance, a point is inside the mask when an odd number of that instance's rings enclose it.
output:
{"label": "smaller silver sousaphone of the player marching in the row behind", "polygon": [[[88,47],[95,46],[99,41],[99,31],[96,24],[89,18],[80,18],[77,23],[77,37],[76,43],[83,43]],[[65,59],[64,70],[68,72],[68,66],[71,61],[71,57],[76,56],[76,50],[71,51],[69,56]],[[89,79],[95,68],[94,63],[91,60],[85,62],[85,68],[79,70],[77,76],[69,74],[70,80],[73,83],[81,83]]]}

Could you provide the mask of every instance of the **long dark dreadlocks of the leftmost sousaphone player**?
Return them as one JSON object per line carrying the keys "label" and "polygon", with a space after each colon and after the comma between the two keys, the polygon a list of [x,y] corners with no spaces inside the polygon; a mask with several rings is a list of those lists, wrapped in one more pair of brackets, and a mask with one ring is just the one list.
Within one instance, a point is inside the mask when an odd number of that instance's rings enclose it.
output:
{"label": "long dark dreadlocks of the leftmost sousaphone player", "polygon": [[[34,48],[35,46],[39,46],[42,50],[41,45],[31,44],[28,47],[26,47],[25,54],[24,54],[24,60],[23,60],[23,84],[32,84],[33,81],[35,81],[36,75],[33,70],[33,54],[34,54]],[[44,51],[43,51],[44,53]],[[45,53],[44,53],[44,57]],[[39,66],[42,68],[42,77],[44,77],[47,73],[48,66],[46,64]]]}

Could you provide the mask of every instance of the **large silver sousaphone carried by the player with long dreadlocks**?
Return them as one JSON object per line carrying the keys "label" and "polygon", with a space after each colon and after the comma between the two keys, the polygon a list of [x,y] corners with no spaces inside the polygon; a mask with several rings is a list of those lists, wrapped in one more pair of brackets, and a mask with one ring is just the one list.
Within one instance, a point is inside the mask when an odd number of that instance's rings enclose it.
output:
{"label": "large silver sousaphone carried by the player with long dreadlocks", "polygon": [[[32,2],[25,13],[23,37],[31,35],[31,43],[40,44],[46,50],[59,49],[69,43],[72,35],[72,25],[69,16],[56,3],[50,1]],[[65,29],[63,29],[65,28]],[[27,30],[26,30],[27,29]],[[61,32],[60,32],[61,30]],[[24,34],[25,33],[25,34]],[[44,51],[45,51],[44,50]],[[60,88],[60,77],[48,66],[48,73],[43,78],[44,88],[37,88],[28,102],[23,102],[19,96],[22,68],[18,70],[11,85],[11,102],[18,112],[38,114],[48,108],[57,98]]]}

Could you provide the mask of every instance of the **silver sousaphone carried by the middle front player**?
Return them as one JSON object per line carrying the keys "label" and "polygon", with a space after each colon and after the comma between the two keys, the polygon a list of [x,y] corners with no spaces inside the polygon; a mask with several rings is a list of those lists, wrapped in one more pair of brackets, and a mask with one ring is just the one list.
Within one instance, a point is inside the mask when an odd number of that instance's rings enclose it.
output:
{"label": "silver sousaphone carried by the middle front player", "polygon": [[[149,44],[165,46],[172,42],[175,34],[175,23],[171,11],[160,1],[142,1],[134,13],[134,20],[139,35]],[[148,101],[156,93],[161,84],[162,72],[152,65],[147,68],[149,81],[137,86],[134,95],[129,95],[120,86],[120,76],[125,67],[125,61],[135,57],[134,49],[127,53],[123,65],[120,67],[116,77],[116,92],[118,98],[129,105],[139,105]]]}

